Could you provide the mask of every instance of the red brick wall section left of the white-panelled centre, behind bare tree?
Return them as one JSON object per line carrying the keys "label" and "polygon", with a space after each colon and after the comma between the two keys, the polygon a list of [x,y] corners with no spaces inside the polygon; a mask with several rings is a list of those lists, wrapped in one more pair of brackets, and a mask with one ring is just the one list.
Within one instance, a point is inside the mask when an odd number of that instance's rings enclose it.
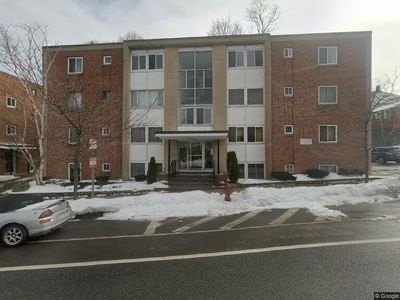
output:
{"label": "red brick wall section left of the white-panelled centre, behind bare tree", "polygon": [[[111,55],[111,65],[103,65],[103,56]],[[82,93],[82,110],[87,117],[83,118],[82,135],[83,152],[82,179],[90,179],[88,149],[89,139],[97,140],[96,176],[109,175],[121,177],[121,133],[122,133],[122,85],[123,85],[123,51],[120,49],[92,49],[60,51],[55,56],[48,87],[51,101],[58,101],[65,106],[66,99],[73,91]],[[68,74],[68,57],[83,57],[83,73]],[[112,99],[103,100],[103,91],[111,91]],[[88,113],[88,108],[96,108]],[[69,116],[74,119],[73,113]],[[76,122],[76,118],[74,119]],[[111,127],[109,137],[101,136],[103,126]],[[67,178],[68,163],[73,162],[75,146],[68,144],[70,124],[52,105],[49,106],[47,175],[52,178]],[[110,163],[111,171],[103,173],[102,163]]]}

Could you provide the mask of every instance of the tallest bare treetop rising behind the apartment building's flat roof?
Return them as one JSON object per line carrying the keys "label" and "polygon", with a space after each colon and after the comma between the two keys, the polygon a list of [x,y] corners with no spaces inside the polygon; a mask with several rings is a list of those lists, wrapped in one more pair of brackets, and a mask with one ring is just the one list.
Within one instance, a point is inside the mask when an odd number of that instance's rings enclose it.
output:
{"label": "tallest bare treetop rising behind the apartment building's flat roof", "polygon": [[276,29],[280,17],[276,4],[269,5],[267,0],[253,0],[246,9],[246,20],[255,25],[257,33],[268,33]]}

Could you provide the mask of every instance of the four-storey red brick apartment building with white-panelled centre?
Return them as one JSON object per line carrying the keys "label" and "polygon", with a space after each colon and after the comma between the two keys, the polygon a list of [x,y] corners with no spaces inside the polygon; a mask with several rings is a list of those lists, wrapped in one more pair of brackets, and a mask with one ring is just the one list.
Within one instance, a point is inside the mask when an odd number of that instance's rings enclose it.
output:
{"label": "four-storey red brick apartment building with white-panelled centre", "polygon": [[[45,53],[55,55],[52,73],[62,82],[85,83],[82,107],[110,92],[91,120],[105,145],[97,175],[134,178],[152,156],[164,172],[226,173],[228,151],[244,178],[363,169],[370,32],[132,40]],[[77,94],[47,86],[66,102]],[[48,149],[47,173],[66,178],[71,126],[51,112],[48,125],[61,142]],[[114,135],[102,137],[105,126]],[[87,178],[88,157],[81,163]]]}

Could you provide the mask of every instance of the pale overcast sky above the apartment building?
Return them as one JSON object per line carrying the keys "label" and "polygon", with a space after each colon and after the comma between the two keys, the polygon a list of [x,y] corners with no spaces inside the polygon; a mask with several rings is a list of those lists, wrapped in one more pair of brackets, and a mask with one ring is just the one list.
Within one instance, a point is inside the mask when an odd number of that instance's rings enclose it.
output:
{"label": "pale overcast sky above the apartment building", "polygon": [[[115,41],[136,30],[144,38],[204,36],[212,20],[231,16],[251,31],[251,0],[0,0],[0,22],[39,22],[51,44]],[[400,71],[400,0],[275,0],[272,34],[373,31],[373,79]]]}

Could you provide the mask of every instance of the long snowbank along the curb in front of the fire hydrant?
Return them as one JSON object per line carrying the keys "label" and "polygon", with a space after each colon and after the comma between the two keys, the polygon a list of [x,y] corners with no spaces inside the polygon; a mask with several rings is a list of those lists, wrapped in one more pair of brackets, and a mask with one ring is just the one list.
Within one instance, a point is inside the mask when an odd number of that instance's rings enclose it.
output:
{"label": "long snowbank along the curb in front of the fire hydrant", "polygon": [[219,216],[259,209],[306,208],[317,216],[341,217],[342,212],[327,206],[360,202],[385,202],[398,198],[400,179],[390,178],[362,184],[322,187],[262,188],[250,187],[232,194],[225,202],[218,193],[192,191],[183,193],[151,192],[142,196],[113,199],[71,200],[76,214],[105,212],[104,220],[163,220],[168,217]]}

